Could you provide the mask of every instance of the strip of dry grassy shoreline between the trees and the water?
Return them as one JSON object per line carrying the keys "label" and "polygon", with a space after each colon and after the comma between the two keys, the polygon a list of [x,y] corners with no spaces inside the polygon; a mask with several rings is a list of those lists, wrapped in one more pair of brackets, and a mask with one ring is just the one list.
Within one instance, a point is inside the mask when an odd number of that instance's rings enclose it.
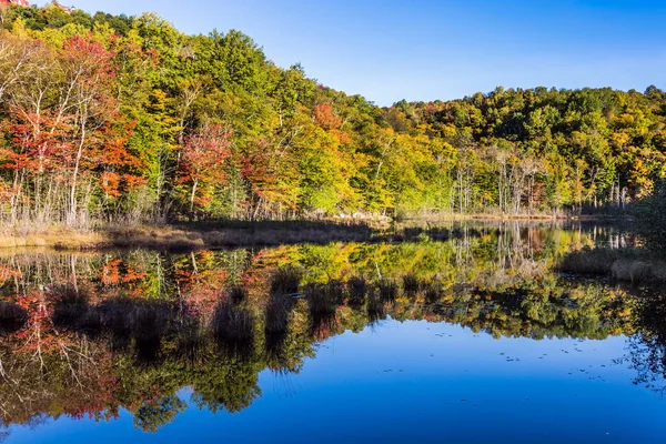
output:
{"label": "strip of dry grassy shoreline between the trees and the water", "polygon": [[[91,230],[46,228],[34,230],[6,229],[0,231],[0,249],[44,248],[53,250],[109,250],[144,248],[153,250],[202,250],[239,246],[276,246],[282,244],[331,242],[402,242],[416,240],[417,234],[433,239],[455,236],[455,229],[438,229],[448,222],[589,222],[626,221],[627,218],[498,218],[472,214],[460,218],[412,218],[386,223],[379,220],[330,221],[225,221],[192,222],[164,225],[103,226]],[[423,225],[427,228],[423,228]],[[397,231],[396,231],[397,230]],[[410,231],[410,234],[406,234]],[[418,233],[416,233],[418,231]]]}

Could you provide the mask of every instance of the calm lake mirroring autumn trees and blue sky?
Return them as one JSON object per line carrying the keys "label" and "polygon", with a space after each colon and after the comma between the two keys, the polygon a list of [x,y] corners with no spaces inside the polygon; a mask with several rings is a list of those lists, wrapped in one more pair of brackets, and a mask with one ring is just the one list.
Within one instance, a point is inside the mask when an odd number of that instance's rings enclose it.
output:
{"label": "calm lake mirroring autumn trees and blue sky", "polygon": [[565,275],[595,225],[0,253],[3,443],[663,443],[664,289]]}

